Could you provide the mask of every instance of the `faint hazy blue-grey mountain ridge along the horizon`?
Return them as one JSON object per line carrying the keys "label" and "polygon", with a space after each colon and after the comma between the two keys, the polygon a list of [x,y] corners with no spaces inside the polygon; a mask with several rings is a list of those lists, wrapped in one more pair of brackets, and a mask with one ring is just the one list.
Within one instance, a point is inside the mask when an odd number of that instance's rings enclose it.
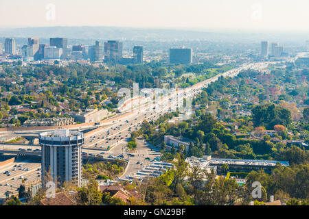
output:
{"label": "faint hazy blue-grey mountain ridge along the horizon", "polygon": [[[291,40],[291,36],[282,33],[263,34],[260,32],[249,33],[242,31],[202,31],[190,29],[154,29],[137,27],[23,27],[0,28],[0,37],[64,37],[72,39],[98,39],[98,40],[209,40],[209,41],[239,41],[256,42],[256,40],[285,37]],[[298,39],[300,35],[294,34]]]}

